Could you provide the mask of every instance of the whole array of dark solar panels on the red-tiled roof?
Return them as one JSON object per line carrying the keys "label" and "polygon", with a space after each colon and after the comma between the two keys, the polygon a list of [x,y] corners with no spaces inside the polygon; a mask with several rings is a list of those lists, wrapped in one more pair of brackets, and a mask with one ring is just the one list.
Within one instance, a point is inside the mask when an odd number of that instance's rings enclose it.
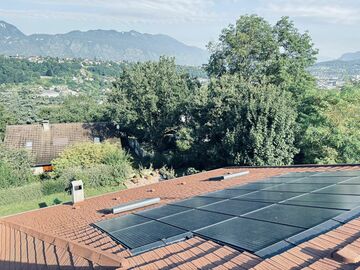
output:
{"label": "whole array of dark solar panels on the red-tiled roof", "polygon": [[133,254],[197,235],[268,257],[360,214],[359,206],[360,171],[294,172],[95,225]]}

